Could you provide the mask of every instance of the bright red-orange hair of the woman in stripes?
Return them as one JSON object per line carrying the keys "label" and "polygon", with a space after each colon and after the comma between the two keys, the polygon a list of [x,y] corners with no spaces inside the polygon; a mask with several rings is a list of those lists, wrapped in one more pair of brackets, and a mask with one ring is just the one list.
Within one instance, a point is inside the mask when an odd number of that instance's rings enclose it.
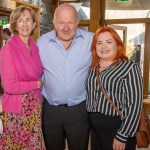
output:
{"label": "bright red-orange hair of the woman in stripes", "polygon": [[100,33],[104,33],[104,32],[109,32],[113,39],[116,41],[117,46],[118,46],[118,51],[117,54],[114,58],[114,60],[119,60],[119,59],[125,59],[128,60],[128,57],[125,56],[125,46],[122,42],[122,40],[120,39],[118,33],[111,27],[100,27],[96,30],[94,37],[93,37],[93,41],[92,41],[92,45],[91,45],[91,52],[92,52],[92,63],[91,63],[91,68],[94,68],[96,66],[96,64],[99,62],[99,56],[96,53],[96,43],[97,43],[97,38],[99,36]]}

